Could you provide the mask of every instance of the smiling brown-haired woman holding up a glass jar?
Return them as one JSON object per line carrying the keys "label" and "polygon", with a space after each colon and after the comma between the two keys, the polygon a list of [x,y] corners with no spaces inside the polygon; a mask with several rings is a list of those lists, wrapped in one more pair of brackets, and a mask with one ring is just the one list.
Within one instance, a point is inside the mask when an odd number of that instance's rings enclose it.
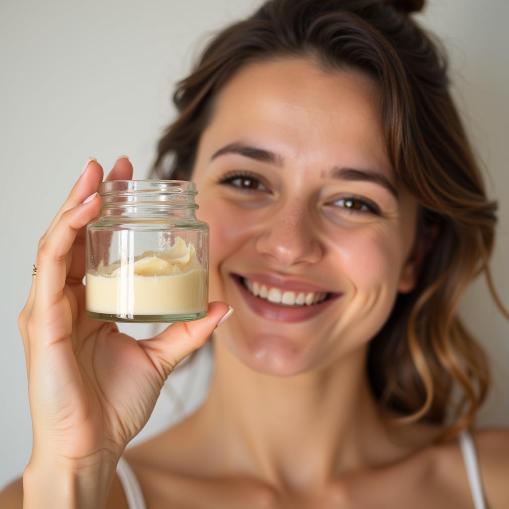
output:
{"label": "smiling brown-haired woman holding up a glass jar", "polygon": [[[34,446],[2,506],[507,507],[509,433],[466,431],[489,378],[456,315],[495,204],[420,7],[273,0],[180,83],[153,176],[199,189],[200,321],[136,342],[84,315],[87,162],[19,317]],[[126,451],[211,334],[205,403]]]}

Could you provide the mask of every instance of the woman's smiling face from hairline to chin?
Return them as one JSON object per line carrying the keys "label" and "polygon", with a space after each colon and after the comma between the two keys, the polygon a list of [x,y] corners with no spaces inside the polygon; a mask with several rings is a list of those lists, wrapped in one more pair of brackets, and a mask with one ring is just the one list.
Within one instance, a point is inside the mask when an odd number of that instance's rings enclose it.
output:
{"label": "woman's smiling face from hairline to chin", "polygon": [[394,181],[378,101],[360,72],[304,59],[247,65],[216,98],[197,216],[210,298],[235,308],[217,340],[254,370],[293,375],[365,348],[413,287],[417,206]]}

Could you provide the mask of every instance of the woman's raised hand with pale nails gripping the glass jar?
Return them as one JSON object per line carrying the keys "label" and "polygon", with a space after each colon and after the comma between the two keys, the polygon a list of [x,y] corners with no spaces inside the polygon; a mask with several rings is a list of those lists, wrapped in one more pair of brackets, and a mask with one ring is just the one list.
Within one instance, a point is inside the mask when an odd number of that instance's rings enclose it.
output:
{"label": "woman's raised hand with pale nails gripping the glass jar", "polygon": [[[167,376],[229,311],[213,302],[207,317],[142,341],[86,315],[85,227],[99,214],[101,197],[83,202],[102,178],[101,165],[91,160],[39,242],[37,275],[19,315],[34,434],[25,473],[116,465],[145,426]],[[106,180],[131,178],[132,165],[121,158]]]}

